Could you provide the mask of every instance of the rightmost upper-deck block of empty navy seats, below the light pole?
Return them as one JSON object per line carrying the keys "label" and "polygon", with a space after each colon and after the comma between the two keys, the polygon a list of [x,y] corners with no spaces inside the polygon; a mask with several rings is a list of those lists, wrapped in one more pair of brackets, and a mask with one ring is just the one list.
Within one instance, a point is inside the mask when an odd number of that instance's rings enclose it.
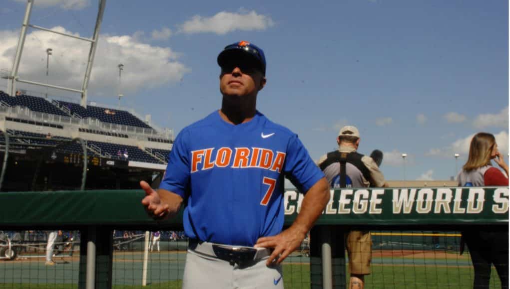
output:
{"label": "rightmost upper-deck block of empty navy seats, below the light pole", "polygon": [[91,105],[88,105],[87,108],[85,108],[78,103],[66,101],[58,101],[58,103],[60,104],[60,106],[69,108],[71,114],[74,113],[78,114],[82,118],[98,119],[99,121],[104,123],[120,124],[141,128],[151,128],[150,126],[142,122],[140,119],[135,117],[133,114],[125,110],[117,110]]}

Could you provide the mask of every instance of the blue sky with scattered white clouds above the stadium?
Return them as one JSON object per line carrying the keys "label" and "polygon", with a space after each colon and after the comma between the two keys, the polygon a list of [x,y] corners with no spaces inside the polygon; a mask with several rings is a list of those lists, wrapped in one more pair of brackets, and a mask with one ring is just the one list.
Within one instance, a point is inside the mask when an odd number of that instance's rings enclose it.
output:
{"label": "blue sky with scattered white clouds above the stadium", "polygon": [[[2,74],[25,4],[0,8]],[[96,13],[95,0],[36,0],[31,22],[90,37]],[[296,132],[314,160],[336,148],[347,124],[360,130],[361,153],[385,153],[389,180],[403,179],[402,153],[407,180],[449,179],[453,154],[460,168],[478,131],[495,134],[508,154],[507,1],[110,0],[100,34],[89,100],[118,104],[123,63],[121,105],[175,132],[220,107],[216,56],[247,40],[268,63],[258,109]],[[80,88],[87,53],[85,43],[30,29],[19,74]]]}

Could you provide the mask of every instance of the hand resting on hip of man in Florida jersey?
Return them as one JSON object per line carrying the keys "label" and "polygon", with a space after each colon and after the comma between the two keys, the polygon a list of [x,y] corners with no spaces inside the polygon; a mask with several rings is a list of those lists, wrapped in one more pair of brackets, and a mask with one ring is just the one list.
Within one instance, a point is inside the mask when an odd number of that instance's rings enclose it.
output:
{"label": "hand resting on hip of man in Florida jersey", "polygon": [[273,262],[280,264],[301,245],[305,235],[306,232],[302,233],[299,229],[291,226],[276,236],[259,238],[254,247],[274,248],[274,251],[267,259],[266,265],[269,266]]}

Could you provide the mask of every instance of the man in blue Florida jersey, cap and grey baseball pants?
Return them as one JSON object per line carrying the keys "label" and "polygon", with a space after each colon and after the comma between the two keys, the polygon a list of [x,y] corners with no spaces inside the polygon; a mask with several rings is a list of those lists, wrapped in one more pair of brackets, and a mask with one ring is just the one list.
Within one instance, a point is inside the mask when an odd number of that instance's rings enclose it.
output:
{"label": "man in blue Florida jersey, cap and grey baseball pants", "polygon": [[[142,204],[163,219],[185,200],[184,288],[283,288],[281,262],[326,206],[328,184],[297,135],[256,110],[266,84],[262,49],[241,41],[217,61],[221,109],[177,135],[158,191],[140,182]],[[282,232],[284,177],[305,197]]]}

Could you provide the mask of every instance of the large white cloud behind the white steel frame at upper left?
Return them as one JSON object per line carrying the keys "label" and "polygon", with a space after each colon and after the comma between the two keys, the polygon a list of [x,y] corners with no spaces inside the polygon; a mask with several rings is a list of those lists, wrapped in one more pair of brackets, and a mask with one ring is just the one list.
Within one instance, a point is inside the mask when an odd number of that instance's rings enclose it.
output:
{"label": "large white cloud behind the white steel frame at upper left", "polygon": [[[73,34],[60,26],[52,30]],[[11,69],[18,37],[18,32],[0,31],[0,69]],[[49,59],[49,77],[46,77],[48,47],[53,48],[53,55]],[[81,89],[89,49],[89,45],[77,39],[33,31],[25,40],[19,76],[21,79]],[[179,54],[168,47],[151,46],[132,36],[100,35],[89,82],[89,95],[117,94],[119,63],[124,64],[123,94],[177,82],[190,71],[178,58]],[[19,83],[18,87],[23,88],[22,85]]]}

